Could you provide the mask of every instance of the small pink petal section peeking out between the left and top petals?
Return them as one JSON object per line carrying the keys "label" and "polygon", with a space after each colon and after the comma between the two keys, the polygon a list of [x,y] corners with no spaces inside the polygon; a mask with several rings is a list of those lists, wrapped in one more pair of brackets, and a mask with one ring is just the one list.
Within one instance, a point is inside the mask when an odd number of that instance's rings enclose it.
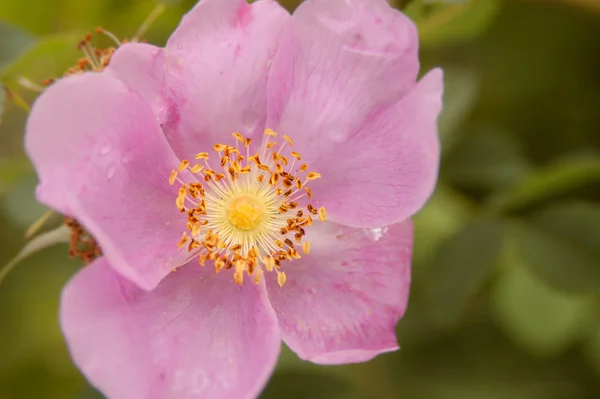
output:
{"label": "small pink petal section peeking out between the left and top petals", "polygon": [[152,106],[158,123],[167,117],[164,50],[145,43],[125,43],[113,54],[107,70]]}

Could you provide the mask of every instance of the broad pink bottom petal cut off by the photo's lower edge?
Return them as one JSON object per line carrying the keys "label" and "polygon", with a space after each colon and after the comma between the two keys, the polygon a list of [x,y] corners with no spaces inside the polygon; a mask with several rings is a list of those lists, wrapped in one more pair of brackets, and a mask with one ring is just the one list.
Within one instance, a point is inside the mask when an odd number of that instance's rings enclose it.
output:
{"label": "broad pink bottom petal cut off by the photo's lower edge", "polygon": [[65,287],[61,325],[77,366],[111,399],[244,399],[279,354],[264,285],[189,264],[151,292],[102,258]]}

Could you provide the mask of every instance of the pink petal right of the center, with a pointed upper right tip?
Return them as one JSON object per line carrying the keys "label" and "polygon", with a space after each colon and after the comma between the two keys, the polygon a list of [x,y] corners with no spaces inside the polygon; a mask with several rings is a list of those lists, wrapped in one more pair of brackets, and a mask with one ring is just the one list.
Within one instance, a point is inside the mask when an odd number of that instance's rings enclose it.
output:
{"label": "pink petal right of the center, with a pointed upper right tip", "polygon": [[315,198],[329,218],[356,227],[397,223],[433,193],[440,145],[443,75],[429,72],[398,103],[372,115],[347,141],[320,158]]}

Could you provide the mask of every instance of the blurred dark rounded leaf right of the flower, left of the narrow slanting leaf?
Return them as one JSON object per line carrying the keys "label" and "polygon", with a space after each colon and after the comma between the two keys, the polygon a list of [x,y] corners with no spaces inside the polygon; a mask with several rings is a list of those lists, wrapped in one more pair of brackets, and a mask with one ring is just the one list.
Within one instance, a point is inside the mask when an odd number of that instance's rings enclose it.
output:
{"label": "blurred dark rounded leaf right of the flower, left of the narrow slanting leaf", "polygon": [[443,176],[461,187],[498,190],[518,181],[529,168],[519,142],[493,128],[471,130],[447,154]]}

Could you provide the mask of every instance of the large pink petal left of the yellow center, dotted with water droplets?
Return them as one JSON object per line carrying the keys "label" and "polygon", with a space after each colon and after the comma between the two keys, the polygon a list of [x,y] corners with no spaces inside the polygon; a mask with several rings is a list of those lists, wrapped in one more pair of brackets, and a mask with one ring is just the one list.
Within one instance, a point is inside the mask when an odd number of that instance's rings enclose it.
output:
{"label": "large pink petal left of the yellow center, dotted with water droplets", "polygon": [[115,270],[145,289],[186,255],[179,160],[148,104],[108,73],[60,80],[36,101],[25,145],[40,179],[38,200],[81,222]]}

